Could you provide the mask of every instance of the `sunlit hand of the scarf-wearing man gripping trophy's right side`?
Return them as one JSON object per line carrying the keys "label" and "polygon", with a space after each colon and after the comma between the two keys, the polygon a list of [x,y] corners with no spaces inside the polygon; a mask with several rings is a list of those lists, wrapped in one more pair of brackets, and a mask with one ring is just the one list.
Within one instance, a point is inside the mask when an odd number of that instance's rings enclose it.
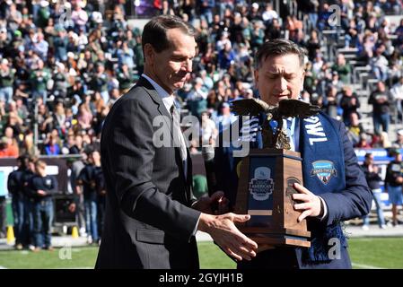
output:
{"label": "sunlit hand of the scarf-wearing man gripping trophy's right side", "polygon": [[302,204],[293,204],[295,210],[302,211],[298,217],[298,222],[302,222],[308,216],[317,217],[323,213],[319,196],[315,196],[311,191],[297,183],[293,184],[293,188],[299,192],[299,194],[293,194],[293,200],[303,202]]}

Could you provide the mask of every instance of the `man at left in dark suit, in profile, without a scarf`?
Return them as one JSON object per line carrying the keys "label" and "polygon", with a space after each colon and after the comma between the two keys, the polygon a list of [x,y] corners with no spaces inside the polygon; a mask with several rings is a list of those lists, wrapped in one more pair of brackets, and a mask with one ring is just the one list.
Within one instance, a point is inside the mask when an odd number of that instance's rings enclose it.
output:
{"label": "man at left in dark suit, in profile, without a scarf", "polygon": [[[102,130],[107,202],[96,268],[198,268],[197,230],[228,255],[250,260],[258,246],[233,223],[250,216],[207,214],[223,195],[196,201],[191,191],[173,91],[192,70],[194,30],[178,17],[158,16],[145,25],[142,45],[144,74],[113,105]],[[161,130],[162,141],[155,136]]]}

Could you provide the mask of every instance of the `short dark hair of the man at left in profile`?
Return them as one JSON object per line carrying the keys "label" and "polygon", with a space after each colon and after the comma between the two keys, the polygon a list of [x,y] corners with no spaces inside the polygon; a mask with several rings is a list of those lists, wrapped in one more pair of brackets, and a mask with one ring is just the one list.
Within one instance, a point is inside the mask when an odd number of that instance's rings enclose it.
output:
{"label": "short dark hair of the man at left in profile", "polygon": [[184,22],[180,17],[171,15],[160,15],[153,17],[150,22],[145,24],[142,35],[143,52],[145,44],[153,46],[157,53],[170,48],[171,42],[167,38],[167,30],[180,29],[185,35],[195,37],[195,29]]}

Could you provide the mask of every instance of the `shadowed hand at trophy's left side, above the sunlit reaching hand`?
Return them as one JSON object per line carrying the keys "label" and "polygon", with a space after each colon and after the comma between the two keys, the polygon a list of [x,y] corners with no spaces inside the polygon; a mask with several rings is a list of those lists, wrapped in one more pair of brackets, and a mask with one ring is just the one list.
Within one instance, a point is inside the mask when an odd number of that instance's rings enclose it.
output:
{"label": "shadowed hand at trophy's left side, above the sunlit reaching hand", "polygon": [[229,211],[229,201],[224,197],[223,191],[216,191],[210,197],[200,197],[192,207],[202,213],[223,214]]}

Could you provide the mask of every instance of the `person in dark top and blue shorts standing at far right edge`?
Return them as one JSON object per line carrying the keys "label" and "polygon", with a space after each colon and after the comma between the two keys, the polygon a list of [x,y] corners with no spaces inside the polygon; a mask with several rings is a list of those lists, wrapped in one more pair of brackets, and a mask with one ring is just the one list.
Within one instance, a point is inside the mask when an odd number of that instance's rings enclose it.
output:
{"label": "person in dark top and blue shorts standing at far right edge", "polygon": [[389,201],[392,204],[392,225],[397,226],[399,224],[398,205],[403,205],[403,163],[399,150],[393,150],[390,153],[394,160],[390,161],[386,169],[385,191],[388,192]]}

